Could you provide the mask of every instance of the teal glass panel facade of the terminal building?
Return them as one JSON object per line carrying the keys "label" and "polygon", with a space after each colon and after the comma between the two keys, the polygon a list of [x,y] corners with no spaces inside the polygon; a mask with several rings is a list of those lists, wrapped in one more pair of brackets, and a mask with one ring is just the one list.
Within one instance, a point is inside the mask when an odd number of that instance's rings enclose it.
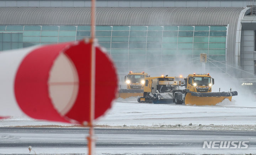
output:
{"label": "teal glass panel facade of the terminal building", "polygon": [[[208,58],[225,63],[227,28],[227,26],[96,26],[96,38],[99,44],[107,49],[118,73],[123,76],[130,70],[144,71],[181,59],[192,61],[198,58],[200,53],[207,53]],[[90,26],[2,25],[0,50],[6,50],[7,44],[9,49],[13,49],[75,41],[90,37],[90,29]],[[7,34],[11,35],[11,38],[7,37]],[[18,40],[12,39],[12,35]],[[216,68],[208,63],[207,67]]]}

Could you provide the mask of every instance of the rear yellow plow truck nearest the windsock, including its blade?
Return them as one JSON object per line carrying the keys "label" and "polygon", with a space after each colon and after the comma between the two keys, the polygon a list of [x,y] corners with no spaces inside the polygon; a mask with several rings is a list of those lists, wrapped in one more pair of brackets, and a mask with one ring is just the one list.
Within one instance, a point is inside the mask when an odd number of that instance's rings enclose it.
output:
{"label": "rear yellow plow truck nearest the windsock, including its blade", "polygon": [[132,96],[143,96],[146,77],[149,77],[149,75],[144,71],[140,73],[133,73],[130,71],[128,75],[124,76],[127,89],[119,89],[118,97],[128,98]]}

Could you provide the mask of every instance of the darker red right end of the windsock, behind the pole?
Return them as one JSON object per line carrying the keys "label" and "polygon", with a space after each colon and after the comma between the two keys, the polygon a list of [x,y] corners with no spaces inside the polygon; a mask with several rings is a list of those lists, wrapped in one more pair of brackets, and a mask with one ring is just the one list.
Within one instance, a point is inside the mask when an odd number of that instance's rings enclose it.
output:
{"label": "darker red right end of the windsock, behind the pole", "polygon": [[[90,121],[90,68],[91,44],[79,42],[65,51],[76,67],[79,76],[79,92],[70,111],[65,115],[80,123]],[[77,55],[80,55],[79,57]],[[108,56],[96,47],[95,119],[111,107],[117,91],[117,75]]]}

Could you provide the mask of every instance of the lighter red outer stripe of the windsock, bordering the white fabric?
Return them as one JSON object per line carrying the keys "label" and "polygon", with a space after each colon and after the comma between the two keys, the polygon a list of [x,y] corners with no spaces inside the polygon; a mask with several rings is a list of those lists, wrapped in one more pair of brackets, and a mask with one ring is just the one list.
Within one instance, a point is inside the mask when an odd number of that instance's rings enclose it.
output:
{"label": "lighter red outer stripe of the windsock, bordering the white fabric", "polygon": [[68,122],[54,108],[48,92],[49,71],[59,53],[71,43],[39,47],[22,60],[15,78],[15,97],[24,113],[35,119]]}

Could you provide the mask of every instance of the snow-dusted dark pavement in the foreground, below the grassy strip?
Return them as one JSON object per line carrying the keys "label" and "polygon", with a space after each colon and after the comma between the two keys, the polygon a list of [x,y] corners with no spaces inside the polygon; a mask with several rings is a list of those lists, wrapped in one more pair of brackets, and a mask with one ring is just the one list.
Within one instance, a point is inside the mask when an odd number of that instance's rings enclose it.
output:
{"label": "snow-dusted dark pavement in the foreground, below the grassy strip", "polygon": [[[86,154],[88,132],[88,128],[0,128],[0,154],[27,154],[30,145],[37,154]],[[95,136],[96,154],[250,154],[256,149],[256,131],[97,128]],[[203,148],[204,141],[246,141],[249,146]]]}

